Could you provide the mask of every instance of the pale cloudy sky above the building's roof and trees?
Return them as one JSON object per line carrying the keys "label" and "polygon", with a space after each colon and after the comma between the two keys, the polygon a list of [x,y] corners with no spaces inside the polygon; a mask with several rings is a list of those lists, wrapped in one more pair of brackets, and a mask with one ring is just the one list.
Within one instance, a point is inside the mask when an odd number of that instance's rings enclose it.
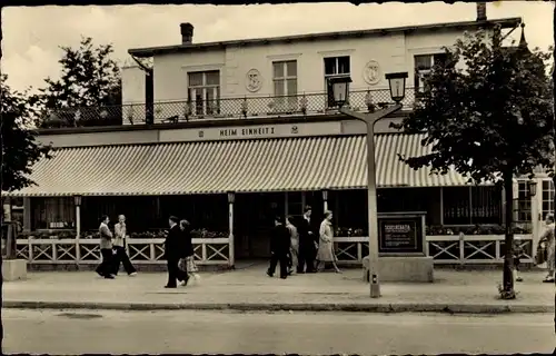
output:
{"label": "pale cloudy sky above the building's roof and trees", "polygon": [[[553,44],[553,7],[545,1],[502,1],[487,4],[487,17],[522,17],[529,48],[546,50]],[[193,42],[207,42],[475,18],[476,4],[465,2],[10,7],[2,10],[1,70],[16,90],[42,87],[44,78],[60,75],[59,46],[75,47],[81,36],[92,37],[97,44],[112,43],[115,58],[123,63],[129,48],[179,44],[181,22],[195,26]],[[518,40],[519,34],[514,31],[512,37]]]}

